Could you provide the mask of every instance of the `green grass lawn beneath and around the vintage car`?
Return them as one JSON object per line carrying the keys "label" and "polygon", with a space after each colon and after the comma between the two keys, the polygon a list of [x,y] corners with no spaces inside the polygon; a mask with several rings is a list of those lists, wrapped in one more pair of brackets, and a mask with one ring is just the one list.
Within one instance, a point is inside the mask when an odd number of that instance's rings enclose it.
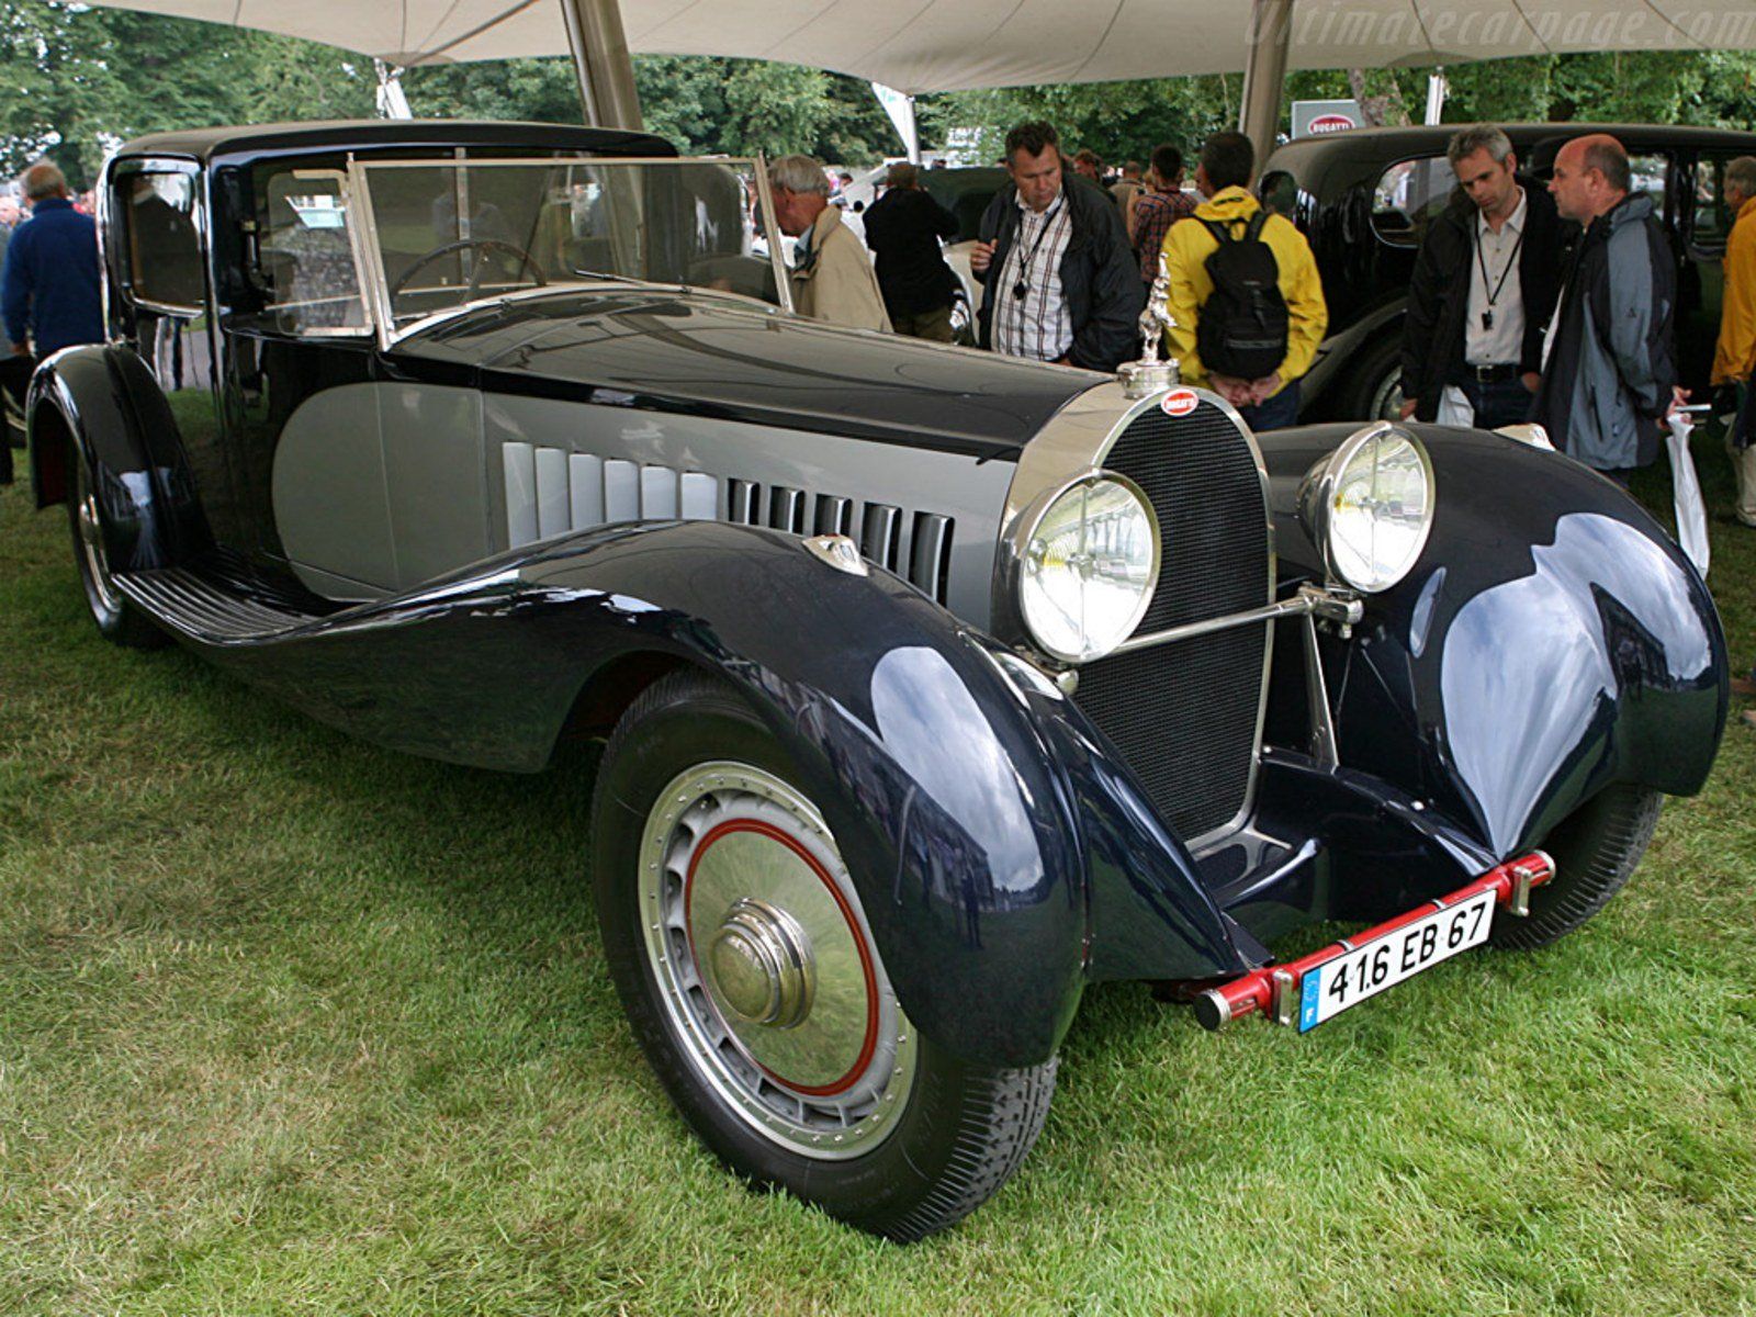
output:
{"label": "green grass lawn beneath and around the vintage car", "polygon": [[[1714,551],[1747,662],[1756,532]],[[0,490],[0,1313],[1756,1312],[1742,725],[1549,952],[1306,1038],[1089,992],[1024,1171],[908,1249],[673,1115],[601,964],[590,783],[116,650],[63,513]]]}

